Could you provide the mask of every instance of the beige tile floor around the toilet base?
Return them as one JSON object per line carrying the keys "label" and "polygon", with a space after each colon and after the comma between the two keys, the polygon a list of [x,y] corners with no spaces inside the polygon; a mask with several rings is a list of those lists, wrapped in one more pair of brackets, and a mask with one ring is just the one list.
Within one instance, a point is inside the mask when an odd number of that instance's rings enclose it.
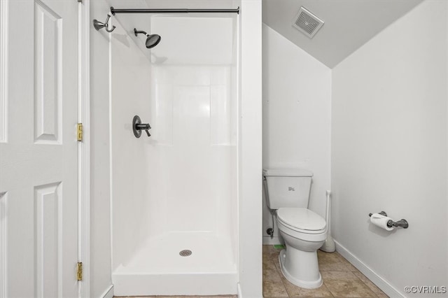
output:
{"label": "beige tile floor around the toilet base", "polygon": [[280,249],[263,246],[264,297],[388,297],[339,253],[318,250],[321,288],[299,288],[284,278],[279,266]]}

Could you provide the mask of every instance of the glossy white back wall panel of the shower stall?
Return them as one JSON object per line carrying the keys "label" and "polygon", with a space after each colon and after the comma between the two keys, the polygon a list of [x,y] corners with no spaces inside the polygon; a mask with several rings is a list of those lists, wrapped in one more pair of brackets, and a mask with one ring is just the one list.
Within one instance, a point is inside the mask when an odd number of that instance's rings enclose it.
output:
{"label": "glossy white back wall panel of the shower stall", "polygon": [[151,50],[150,238],[207,232],[236,248],[236,29],[234,15],[151,17],[162,41]]}

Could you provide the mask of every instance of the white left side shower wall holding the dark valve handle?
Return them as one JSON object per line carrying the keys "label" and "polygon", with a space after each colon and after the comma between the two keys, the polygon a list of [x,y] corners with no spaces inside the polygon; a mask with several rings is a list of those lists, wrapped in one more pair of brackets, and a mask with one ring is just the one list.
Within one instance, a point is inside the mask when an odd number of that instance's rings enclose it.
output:
{"label": "white left side shower wall holding the dark valve handle", "polygon": [[148,235],[148,136],[134,136],[132,119],[139,115],[147,123],[151,116],[151,64],[134,42],[141,36],[116,26],[111,34],[113,270],[129,261]]}

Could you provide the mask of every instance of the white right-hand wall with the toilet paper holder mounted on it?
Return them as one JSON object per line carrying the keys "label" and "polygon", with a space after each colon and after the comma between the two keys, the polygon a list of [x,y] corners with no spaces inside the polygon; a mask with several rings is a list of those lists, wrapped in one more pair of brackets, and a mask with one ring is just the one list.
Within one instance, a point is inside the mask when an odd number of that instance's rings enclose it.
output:
{"label": "white right-hand wall with the toilet paper holder mounted on it", "polygon": [[[447,17],[425,1],[332,73],[332,233],[392,297],[448,281]],[[370,225],[381,210],[409,229]]]}

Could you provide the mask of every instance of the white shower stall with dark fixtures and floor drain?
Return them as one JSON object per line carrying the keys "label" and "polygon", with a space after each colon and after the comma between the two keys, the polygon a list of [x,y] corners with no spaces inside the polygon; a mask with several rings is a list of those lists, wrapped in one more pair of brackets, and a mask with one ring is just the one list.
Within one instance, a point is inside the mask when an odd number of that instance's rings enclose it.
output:
{"label": "white shower stall with dark fixtures and floor drain", "polygon": [[[237,294],[240,15],[117,13],[112,19],[115,295]],[[151,34],[160,41],[150,50]],[[136,115],[151,125],[151,136],[134,136]]]}

